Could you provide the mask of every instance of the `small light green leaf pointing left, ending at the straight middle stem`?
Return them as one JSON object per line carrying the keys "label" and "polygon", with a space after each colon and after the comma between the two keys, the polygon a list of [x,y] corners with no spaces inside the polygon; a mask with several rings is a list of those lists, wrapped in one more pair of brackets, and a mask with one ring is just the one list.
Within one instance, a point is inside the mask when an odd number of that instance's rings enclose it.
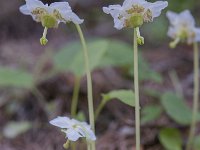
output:
{"label": "small light green leaf pointing left, ending at the straight middle stem", "polygon": [[114,98],[129,106],[135,106],[135,97],[132,90],[115,90],[107,94],[103,94],[103,99],[110,101]]}

